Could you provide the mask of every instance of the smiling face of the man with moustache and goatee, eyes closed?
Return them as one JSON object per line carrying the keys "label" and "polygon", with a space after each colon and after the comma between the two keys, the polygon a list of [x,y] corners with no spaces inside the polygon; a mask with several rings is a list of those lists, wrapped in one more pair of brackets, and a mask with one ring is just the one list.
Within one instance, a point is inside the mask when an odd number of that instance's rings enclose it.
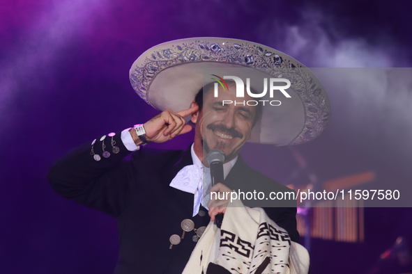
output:
{"label": "smiling face of the man with moustache and goatee, eyes closed", "polygon": [[[222,100],[247,102],[252,99],[245,92],[244,98],[236,98],[236,85],[229,84],[229,91],[219,86],[219,97],[213,90],[204,94],[203,109],[192,122],[196,123],[194,151],[199,159],[212,149],[222,150],[225,162],[234,159],[246,141],[250,139],[256,106],[224,104]],[[203,149],[202,149],[203,148]],[[201,152],[200,152],[201,150]],[[204,153],[204,154],[203,154]],[[201,155],[199,155],[201,154]]]}

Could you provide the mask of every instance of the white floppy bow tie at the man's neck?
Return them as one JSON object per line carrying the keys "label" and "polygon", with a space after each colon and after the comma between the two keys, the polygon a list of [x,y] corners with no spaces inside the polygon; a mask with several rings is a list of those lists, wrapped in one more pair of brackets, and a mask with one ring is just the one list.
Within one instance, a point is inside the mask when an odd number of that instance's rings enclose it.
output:
{"label": "white floppy bow tie at the man's neck", "polygon": [[[211,186],[211,170],[209,168],[199,168],[196,165],[185,166],[171,180],[170,186],[179,191],[194,194],[193,216],[199,213],[200,204],[208,209],[206,205],[210,199],[208,192]],[[206,195],[204,195],[205,192]]]}

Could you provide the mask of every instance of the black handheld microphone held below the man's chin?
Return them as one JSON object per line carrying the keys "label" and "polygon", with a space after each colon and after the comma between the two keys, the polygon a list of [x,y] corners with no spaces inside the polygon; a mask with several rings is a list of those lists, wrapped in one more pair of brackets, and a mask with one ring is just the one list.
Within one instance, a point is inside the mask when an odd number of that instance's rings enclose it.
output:
{"label": "black handheld microphone held below the man's chin", "polygon": [[[212,179],[212,186],[215,186],[217,183],[223,183],[224,175],[223,175],[223,162],[224,162],[224,154],[220,150],[211,150],[208,152],[206,156],[206,161],[209,163],[209,167],[211,168],[211,179]],[[218,228],[222,227],[223,222],[223,214],[220,213],[215,216],[216,218],[216,226]]]}

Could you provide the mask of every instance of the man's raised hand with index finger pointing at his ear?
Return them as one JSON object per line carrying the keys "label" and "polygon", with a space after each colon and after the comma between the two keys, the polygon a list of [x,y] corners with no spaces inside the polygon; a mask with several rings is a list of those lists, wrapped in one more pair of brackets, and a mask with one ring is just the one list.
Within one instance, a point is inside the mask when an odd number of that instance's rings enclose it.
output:
{"label": "man's raised hand with index finger pointing at his ear", "polygon": [[[192,108],[176,113],[167,109],[156,115],[143,124],[144,130],[146,131],[146,140],[154,143],[164,143],[178,135],[188,133],[192,130],[192,127],[186,124],[184,118],[196,113],[198,109],[199,106],[193,106]],[[135,129],[130,129],[129,132],[132,134],[132,138],[135,140],[136,145],[140,145],[142,141],[137,136]]]}

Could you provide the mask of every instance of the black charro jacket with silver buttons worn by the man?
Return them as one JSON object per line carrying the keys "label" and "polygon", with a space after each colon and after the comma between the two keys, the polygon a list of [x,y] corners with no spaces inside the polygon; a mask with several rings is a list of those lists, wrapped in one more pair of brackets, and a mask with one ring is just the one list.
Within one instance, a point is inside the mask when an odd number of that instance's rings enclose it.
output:
{"label": "black charro jacket with silver buttons worn by the man", "polygon": [[[169,248],[172,234],[181,236],[181,221],[192,219],[195,227],[207,226],[207,214],[192,217],[193,194],[169,186],[177,172],[192,164],[188,150],[158,150],[143,147],[130,154],[114,136],[119,154],[95,161],[91,143],[86,143],[58,159],[49,170],[47,179],[52,188],[70,200],[113,216],[119,228],[119,260],[115,273],[180,274],[196,245],[194,232],[186,233],[181,243]],[[109,140],[106,150],[112,152]],[[93,149],[102,155],[102,144],[96,141]],[[248,184],[240,184],[245,182]],[[252,184],[250,184],[252,183]],[[233,190],[291,191],[286,186],[261,175],[245,164],[241,156],[227,175],[224,184]],[[244,201],[245,205],[251,201]],[[272,206],[272,204],[267,204]],[[289,232],[292,241],[299,241],[296,230],[296,202],[288,207],[265,207],[268,216]],[[243,224],[242,225],[247,225]]]}

